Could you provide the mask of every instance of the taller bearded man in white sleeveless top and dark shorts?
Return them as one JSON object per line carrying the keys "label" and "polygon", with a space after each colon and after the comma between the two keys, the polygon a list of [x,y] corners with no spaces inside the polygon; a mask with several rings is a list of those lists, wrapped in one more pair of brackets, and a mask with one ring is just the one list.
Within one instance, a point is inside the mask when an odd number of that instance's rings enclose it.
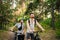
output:
{"label": "taller bearded man in white sleeveless top and dark shorts", "polygon": [[27,20],[27,40],[34,40],[34,25],[37,25],[42,31],[44,31],[43,27],[34,19],[34,14],[30,14],[30,19]]}

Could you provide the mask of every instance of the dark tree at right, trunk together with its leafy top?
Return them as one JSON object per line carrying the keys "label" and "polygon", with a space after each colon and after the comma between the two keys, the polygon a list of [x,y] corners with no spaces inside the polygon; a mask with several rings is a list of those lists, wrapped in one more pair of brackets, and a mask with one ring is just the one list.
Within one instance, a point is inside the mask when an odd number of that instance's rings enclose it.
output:
{"label": "dark tree at right, trunk together with its leafy top", "polygon": [[55,10],[55,7],[56,7],[56,0],[48,0],[49,4],[50,4],[50,7],[51,7],[51,16],[52,16],[52,19],[51,19],[51,26],[53,29],[55,29],[55,16],[54,16],[54,10]]}

